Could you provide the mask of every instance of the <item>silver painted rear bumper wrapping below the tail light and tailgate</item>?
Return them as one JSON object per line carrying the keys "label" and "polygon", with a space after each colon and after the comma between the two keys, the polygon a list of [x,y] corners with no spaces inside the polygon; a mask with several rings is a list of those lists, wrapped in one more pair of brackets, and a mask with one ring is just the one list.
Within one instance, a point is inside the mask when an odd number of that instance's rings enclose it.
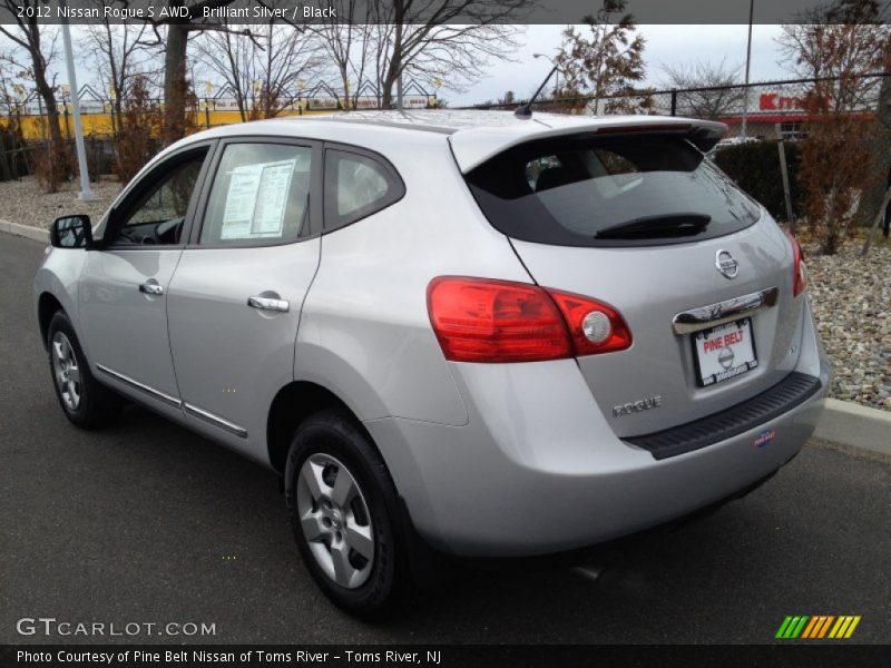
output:
{"label": "silver painted rear bumper wrapping below the tail light and tailgate", "polygon": [[[830,376],[809,322],[795,371],[819,379],[819,392],[732,438],[656,460],[615,436],[572,360],[454,371],[472,397],[466,426],[395,418],[365,424],[419,533],[468,557],[584,548],[732,495],[801,450]],[[772,438],[758,445],[765,433]]]}

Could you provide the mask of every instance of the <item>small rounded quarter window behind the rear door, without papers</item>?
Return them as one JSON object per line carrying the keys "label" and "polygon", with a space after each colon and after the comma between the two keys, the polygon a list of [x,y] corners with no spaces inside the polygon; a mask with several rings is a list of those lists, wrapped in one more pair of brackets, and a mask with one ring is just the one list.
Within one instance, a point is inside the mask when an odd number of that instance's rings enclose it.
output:
{"label": "small rounded quarter window behind the rear door, without papers", "polygon": [[325,151],[325,228],[355,223],[405,194],[395,170],[371,155]]}

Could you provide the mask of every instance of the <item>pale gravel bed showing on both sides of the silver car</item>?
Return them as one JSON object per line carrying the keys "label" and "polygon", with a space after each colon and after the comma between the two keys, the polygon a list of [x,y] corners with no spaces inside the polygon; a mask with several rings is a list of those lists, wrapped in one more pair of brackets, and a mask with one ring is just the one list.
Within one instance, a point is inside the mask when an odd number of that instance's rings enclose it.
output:
{"label": "pale gravel bed showing on both sides of the silver car", "polygon": [[[36,227],[49,227],[62,214],[97,220],[121,186],[104,177],[92,187],[98,200],[82,203],[77,181],[53,195],[41,194],[31,177],[0,183],[0,218]],[[849,240],[828,257],[804,244],[810,299],[834,365],[830,396],[891,411],[891,243],[880,239],[866,261],[859,256],[861,245]]]}

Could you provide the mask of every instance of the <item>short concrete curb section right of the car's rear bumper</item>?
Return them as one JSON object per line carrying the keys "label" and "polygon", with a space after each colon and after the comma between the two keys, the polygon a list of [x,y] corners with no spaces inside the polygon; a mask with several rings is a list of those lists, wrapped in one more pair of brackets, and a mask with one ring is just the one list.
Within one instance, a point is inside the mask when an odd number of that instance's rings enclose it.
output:
{"label": "short concrete curb section right of the car's rear bumper", "polygon": [[814,436],[891,455],[891,411],[828,399]]}

